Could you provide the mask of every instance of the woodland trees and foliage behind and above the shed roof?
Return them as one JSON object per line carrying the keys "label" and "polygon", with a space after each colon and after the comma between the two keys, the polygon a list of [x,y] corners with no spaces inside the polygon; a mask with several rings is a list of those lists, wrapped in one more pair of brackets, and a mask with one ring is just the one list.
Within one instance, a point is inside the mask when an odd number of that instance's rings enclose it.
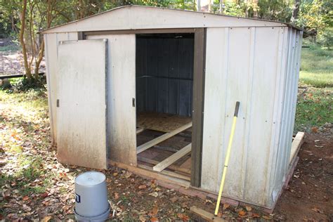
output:
{"label": "woodland trees and foliage behind and above the shed roof", "polygon": [[223,13],[249,18],[293,22],[317,34],[313,41],[332,46],[331,0],[3,0],[0,4],[0,37],[18,39],[28,79],[38,79],[44,54],[39,32],[53,25],[129,4]]}

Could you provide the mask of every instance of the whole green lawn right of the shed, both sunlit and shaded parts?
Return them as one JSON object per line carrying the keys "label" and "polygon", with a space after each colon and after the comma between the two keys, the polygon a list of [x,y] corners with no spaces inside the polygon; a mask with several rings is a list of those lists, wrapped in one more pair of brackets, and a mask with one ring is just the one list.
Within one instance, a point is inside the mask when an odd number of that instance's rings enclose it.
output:
{"label": "whole green lawn right of the shed, both sunlit and shaded parts", "polygon": [[333,51],[304,41],[299,82],[308,87],[299,97],[294,132],[333,123]]}

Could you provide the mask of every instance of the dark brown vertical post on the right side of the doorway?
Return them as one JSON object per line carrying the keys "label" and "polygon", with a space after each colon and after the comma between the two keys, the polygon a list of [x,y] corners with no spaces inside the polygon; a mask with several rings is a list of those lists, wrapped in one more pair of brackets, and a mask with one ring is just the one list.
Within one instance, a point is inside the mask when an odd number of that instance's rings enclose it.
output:
{"label": "dark brown vertical post on the right side of the doorway", "polygon": [[195,29],[192,108],[192,168],[191,185],[201,186],[202,136],[204,124],[204,75],[206,64],[206,28]]}

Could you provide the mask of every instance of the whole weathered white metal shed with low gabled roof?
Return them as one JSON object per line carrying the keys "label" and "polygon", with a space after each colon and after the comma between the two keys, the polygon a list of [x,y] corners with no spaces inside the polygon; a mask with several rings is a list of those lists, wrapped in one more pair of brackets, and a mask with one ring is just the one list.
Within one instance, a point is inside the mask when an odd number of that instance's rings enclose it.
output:
{"label": "whole weathered white metal shed with low gabled roof", "polygon": [[60,162],[111,163],[214,197],[240,101],[223,196],[273,209],[296,161],[301,30],[125,6],[43,34]]}

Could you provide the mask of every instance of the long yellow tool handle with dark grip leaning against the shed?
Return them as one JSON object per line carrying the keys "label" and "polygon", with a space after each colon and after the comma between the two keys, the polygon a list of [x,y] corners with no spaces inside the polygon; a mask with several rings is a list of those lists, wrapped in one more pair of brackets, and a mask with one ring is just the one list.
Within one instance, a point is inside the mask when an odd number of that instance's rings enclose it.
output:
{"label": "long yellow tool handle with dark grip leaning against the shed", "polygon": [[231,146],[233,145],[233,135],[235,134],[236,121],[237,121],[239,109],[240,109],[240,102],[237,101],[236,107],[235,107],[235,114],[233,115],[233,126],[231,127],[231,133],[230,133],[230,137],[229,137],[226,160],[224,161],[220,190],[218,191],[218,198],[217,198],[217,203],[216,203],[216,208],[215,208],[215,213],[214,213],[215,216],[217,216],[218,208],[220,207],[221,195],[222,195],[222,191],[223,191],[224,181],[226,180],[226,174],[227,174],[227,169],[228,169],[228,164],[229,164],[229,159],[230,159],[230,151],[231,151]]}

